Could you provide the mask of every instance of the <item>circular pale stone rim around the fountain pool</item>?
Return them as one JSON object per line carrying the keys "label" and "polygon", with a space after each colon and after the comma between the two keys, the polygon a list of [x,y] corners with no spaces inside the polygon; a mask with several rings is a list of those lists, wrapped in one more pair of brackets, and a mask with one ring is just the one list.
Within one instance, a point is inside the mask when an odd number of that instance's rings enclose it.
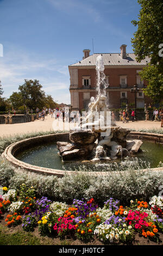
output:
{"label": "circular pale stone rim around the fountain pool", "polygon": [[[44,139],[44,141],[49,138],[55,138],[55,142],[58,141],[57,137],[59,136],[68,136],[70,133],[66,132],[66,133],[54,133],[51,135],[43,135],[43,136],[37,136],[37,137],[32,137],[32,138],[28,138],[28,139],[23,139],[22,141],[18,141],[15,143],[10,144],[2,153],[2,157],[5,158],[7,161],[9,161],[12,165],[19,167],[23,170],[27,170],[29,172],[34,172],[34,173],[39,173],[39,174],[47,174],[47,175],[57,175],[59,177],[64,176],[65,174],[71,175],[71,174],[77,174],[78,171],[70,171],[70,170],[60,170],[60,169],[52,169],[52,168],[45,168],[45,167],[40,167],[40,166],[34,166],[33,164],[29,164],[23,161],[20,161],[18,159],[16,159],[16,157],[14,157],[14,151],[16,149],[20,149],[21,145],[24,143],[29,143],[30,141],[42,141],[42,139]],[[129,137],[134,137],[137,136],[139,139],[148,139],[149,141],[149,137],[151,137],[152,141],[155,141],[155,139],[158,142],[160,142],[161,139],[161,143],[163,143],[163,135],[157,134],[157,133],[148,133],[148,132],[134,132],[131,131],[129,134]],[[64,138],[64,136],[63,136]],[[30,144],[30,143],[29,143]],[[40,143],[41,144],[41,143]],[[146,171],[147,169],[143,169],[143,171]],[[151,170],[153,171],[163,171],[163,167],[157,167],[157,168],[151,168]],[[85,172],[80,172],[80,173],[85,173]],[[96,175],[104,175],[108,172],[87,172],[87,174],[96,174]],[[110,173],[110,172],[109,172]],[[116,173],[116,172],[114,172]]]}

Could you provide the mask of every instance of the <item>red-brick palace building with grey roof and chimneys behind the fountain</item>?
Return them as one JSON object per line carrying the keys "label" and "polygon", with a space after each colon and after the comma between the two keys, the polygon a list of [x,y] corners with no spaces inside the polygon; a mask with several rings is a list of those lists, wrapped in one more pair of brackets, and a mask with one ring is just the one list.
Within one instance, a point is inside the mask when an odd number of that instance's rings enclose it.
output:
{"label": "red-brick palace building with grey roof and chimneys behind the fountain", "polygon": [[[139,71],[148,63],[149,58],[136,62],[134,53],[126,52],[127,45],[121,45],[120,53],[95,53],[90,56],[90,50],[83,50],[84,57],[78,63],[68,66],[70,72],[70,94],[72,109],[86,109],[90,98],[96,96],[96,58],[102,54],[104,61],[105,82],[110,108],[134,107],[135,95],[130,92],[134,85],[139,88],[136,95],[136,107],[144,107],[152,103],[143,94],[146,81],[141,81]],[[124,102],[124,103],[123,103]]]}

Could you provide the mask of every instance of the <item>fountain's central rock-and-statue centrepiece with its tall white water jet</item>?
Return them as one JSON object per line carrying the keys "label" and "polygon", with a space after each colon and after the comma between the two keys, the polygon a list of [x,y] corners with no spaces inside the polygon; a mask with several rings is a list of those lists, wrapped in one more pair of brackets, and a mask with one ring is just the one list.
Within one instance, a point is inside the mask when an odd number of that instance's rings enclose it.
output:
{"label": "fountain's central rock-and-statue centrepiece with its tall white water jet", "polygon": [[142,141],[127,141],[130,130],[116,126],[106,103],[104,63],[101,55],[96,60],[97,96],[91,97],[89,113],[77,128],[70,131],[70,142],[57,142],[63,161],[86,159],[109,161],[137,153]]}

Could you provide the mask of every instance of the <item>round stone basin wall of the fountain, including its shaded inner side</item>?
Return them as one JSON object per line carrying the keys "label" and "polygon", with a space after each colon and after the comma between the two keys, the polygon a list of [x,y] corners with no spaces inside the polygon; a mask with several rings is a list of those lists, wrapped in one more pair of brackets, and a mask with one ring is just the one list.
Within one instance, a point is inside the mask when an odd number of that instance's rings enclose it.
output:
{"label": "round stone basin wall of the fountain, including its shaded inner side", "polygon": [[[17,169],[26,170],[28,172],[33,172],[37,174],[46,174],[46,175],[57,175],[62,177],[66,174],[77,174],[77,172],[71,172],[69,170],[60,170],[55,168],[45,168],[34,166],[32,164],[25,163],[16,159],[16,154],[18,151],[23,151],[26,148],[32,147],[32,145],[42,144],[42,143],[49,143],[49,142],[64,142],[69,139],[70,133],[56,133],[53,135],[44,135],[44,136],[37,136],[29,139],[23,139],[22,141],[15,142],[9,145],[3,152],[2,157],[7,160],[10,164],[14,165]],[[163,135],[155,134],[155,133],[146,133],[146,132],[130,132],[128,139],[142,139],[145,141],[151,141],[154,143],[163,144]],[[161,161],[161,160],[160,160]],[[143,169],[146,171],[146,169]],[[163,167],[159,168],[151,168],[153,171],[163,171]],[[89,172],[90,175],[106,175],[106,172]],[[123,174],[123,173],[122,173]],[[109,174],[108,174],[109,175]]]}

